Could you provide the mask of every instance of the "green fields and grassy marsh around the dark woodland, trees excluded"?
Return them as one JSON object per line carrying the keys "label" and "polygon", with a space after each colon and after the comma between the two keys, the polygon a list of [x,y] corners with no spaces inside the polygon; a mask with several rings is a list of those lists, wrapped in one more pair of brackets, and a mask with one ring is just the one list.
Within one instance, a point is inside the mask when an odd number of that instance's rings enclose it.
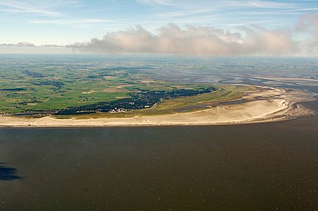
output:
{"label": "green fields and grassy marsh around the dark woodland, trees excluded", "polygon": [[[114,102],[131,97],[131,92],[165,90],[201,90],[211,84],[172,83],[160,80],[148,67],[114,66],[94,62],[30,61],[3,62],[0,67],[0,114],[52,114],[67,107],[98,102]],[[214,86],[214,85],[213,85]],[[153,107],[125,113],[80,115],[86,117],[172,114],[204,109],[213,102],[242,97],[242,86],[218,86],[214,92],[160,100]],[[61,117],[61,116],[59,116]],[[70,116],[67,116],[69,118]],[[78,116],[76,116],[78,117]]]}

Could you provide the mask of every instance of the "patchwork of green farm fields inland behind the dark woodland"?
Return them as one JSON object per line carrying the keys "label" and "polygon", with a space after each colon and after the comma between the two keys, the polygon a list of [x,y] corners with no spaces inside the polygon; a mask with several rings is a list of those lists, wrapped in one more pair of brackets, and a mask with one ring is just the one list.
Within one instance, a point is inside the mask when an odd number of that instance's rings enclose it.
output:
{"label": "patchwork of green farm fields inland behind the dark woodland", "polygon": [[[172,83],[149,77],[126,67],[7,64],[0,68],[0,113],[63,109],[130,97],[132,90],[176,88]],[[177,87],[199,88],[180,84]]]}

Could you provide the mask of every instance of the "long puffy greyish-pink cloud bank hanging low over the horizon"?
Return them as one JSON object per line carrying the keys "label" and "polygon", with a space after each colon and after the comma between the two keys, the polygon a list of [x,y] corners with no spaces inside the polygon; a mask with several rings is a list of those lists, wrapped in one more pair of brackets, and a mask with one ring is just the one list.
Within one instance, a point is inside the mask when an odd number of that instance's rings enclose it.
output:
{"label": "long puffy greyish-pink cloud bank hanging low over the horizon", "polygon": [[[302,38],[296,40],[295,35]],[[304,38],[305,37],[305,38]],[[237,32],[220,28],[168,24],[153,34],[141,26],[107,33],[102,39],[68,45],[81,52],[106,54],[177,55],[294,55],[318,46],[318,16],[300,16],[294,29],[266,30],[260,26],[241,27]]]}

